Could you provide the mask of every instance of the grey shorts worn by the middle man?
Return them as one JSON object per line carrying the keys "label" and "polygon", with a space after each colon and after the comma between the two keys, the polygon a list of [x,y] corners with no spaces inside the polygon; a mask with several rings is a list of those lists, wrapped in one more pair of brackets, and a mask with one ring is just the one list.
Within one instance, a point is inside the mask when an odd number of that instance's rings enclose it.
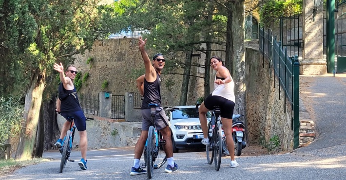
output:
{"label": "grey shorts worn by the middle man", "polygon": [[[160,130],[166,126],[169,125],[167,116],[165,112],[163,111],[163,108],[161,108],[161,111],[159,114],[156,115],[156,130]],[[150,108],[149,109],[140,109],[140,113],[142,114],[142,130],[148,131],[149,127],[153,125],[152,116],[150,115]]]}

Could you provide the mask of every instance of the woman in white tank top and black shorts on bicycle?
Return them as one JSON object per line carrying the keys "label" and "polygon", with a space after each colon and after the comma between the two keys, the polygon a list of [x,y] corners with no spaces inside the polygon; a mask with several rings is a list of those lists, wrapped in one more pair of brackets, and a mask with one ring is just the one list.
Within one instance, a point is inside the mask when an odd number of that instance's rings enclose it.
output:
{"label": "woman in white tank top and black shorts on bicycle", "polygon": [[216,71],[214,91],[203,101],[198,110],[204,136],[202,144],[209,145],[209,129],[207,127],[206,114],[208,111],[213,110],[215,106],[219,106],[226,144],[231,156],[231,167],[237,167],[239,164],[234,158],[234,142],[232,138],[232,118],[235,106],[234,82],[230,71],[224,66],[220,57],[212,56],[210,65]]}

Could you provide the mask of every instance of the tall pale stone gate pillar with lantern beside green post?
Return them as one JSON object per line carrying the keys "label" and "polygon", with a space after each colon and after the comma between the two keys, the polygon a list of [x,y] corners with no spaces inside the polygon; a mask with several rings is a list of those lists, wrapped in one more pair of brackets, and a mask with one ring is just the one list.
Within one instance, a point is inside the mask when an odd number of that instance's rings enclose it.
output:
{"label": "tall pale stone gate pillar with lantern beside green post", "polygon": [[320,75],[327,73],[327,61],[323,58],[323,1],[313,20],[313,0],[303,0],[303,60],[300,74]]}

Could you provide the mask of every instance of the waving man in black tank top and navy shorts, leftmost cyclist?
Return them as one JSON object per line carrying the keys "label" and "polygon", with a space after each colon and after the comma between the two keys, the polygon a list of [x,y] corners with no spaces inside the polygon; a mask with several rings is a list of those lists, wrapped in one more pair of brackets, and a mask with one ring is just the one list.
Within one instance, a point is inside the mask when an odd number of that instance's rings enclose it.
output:
{"label": "waving man in black tank top and navy shorts, leftmost cyclist", "polygon": [[[82,170],[87,170],[87,159],[86,159],[86,151],[88,148],[87,141],[87,133],[86,133],[86,123],[85,116],[80,108],[76,87],[73,84],[75,80],[77,69],[76,67],[69,66],[64,73],[64,68],[62,64],[54,64],[54,70],[60,73],[60,87],[59,87],[59,98],[57,101],[57,111],[61,112],[61,115],[66,119],[66,122],[61,128],[60,138],[55,144],[57,147],[61,147],[62,139],[65,137],[67,130],[70,128],[70,122],[68,117],[73,117],[75,119],[75,125],[79,131],[80,136],[80,152],[82,155],[82,159],[78,162],[78,165]],[[65,76],[66,75],[66,76]],[[61,97],[60,97],[61,96]],[[62,97],[64,96],[64,97]],[[63,99],[62,99],[63,98]],[[61,99],[61,100],[60,100]]]}

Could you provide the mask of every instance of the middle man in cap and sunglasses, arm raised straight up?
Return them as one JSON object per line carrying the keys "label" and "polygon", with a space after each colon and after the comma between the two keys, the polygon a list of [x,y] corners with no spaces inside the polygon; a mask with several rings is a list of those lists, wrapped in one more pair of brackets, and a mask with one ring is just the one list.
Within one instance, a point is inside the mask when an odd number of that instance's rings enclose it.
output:
{"label": "middle man in cap and sunglasses, arm raised straight up", "polygon": [[[161,105],[161,70],[165,66],[165,59],[162,54],[156,54],[153,57],[153,61],[150,60],[147,52],[145,51],[145,44],[147,39],[143,40],[142,37],[138,39],[138,46],[145,65],[145,74],[137,78],[137,88],[139,92],[144,95],[141,114],[142,114],[142,131],[135,145],[135,160],[134,166],[131,168],[130,175],[144,174],[146,171],[140,167],[140,157],[142,156],[145,142],[148,138],[148,130],[152,125],[149,104]],[[162,108],[162,107],[161,107]],[[173,161],[173,146],[171,139],[171,129],[169,127],[167,116],[165,115],[163,108],[159,113],[159,117],[156,119],[156,129],[160,131],[163,139],[166,141],[164,145],[164,151],[167,156],[168,165],[165,168],[165,172],[172,173],[177,171],[178,165]]]}

